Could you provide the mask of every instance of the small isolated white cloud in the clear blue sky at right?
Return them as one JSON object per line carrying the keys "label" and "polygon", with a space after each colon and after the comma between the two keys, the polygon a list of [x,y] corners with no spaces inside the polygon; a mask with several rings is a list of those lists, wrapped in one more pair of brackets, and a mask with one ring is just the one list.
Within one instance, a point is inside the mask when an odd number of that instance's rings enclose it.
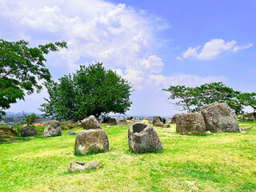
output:
{"label": "small isolated white cloud in the clear blue sky at right", "polygon": [[225,42],[221,38],[214,38],[210,42],[206,42],[206,44],[202,47],[202,50],[199,50],[201,46],[197,46],[195,48],[189,47],[188,50],[182,55],[182,57],[177,57],[178,60],[182,60],[184,58],[197,58],[198,60],[213,60],[217,58],[219,54],[225,51],[238,51],[247,49],[253,44],[248,43],[246,45],[238,46],[237,42],[230,41]]}

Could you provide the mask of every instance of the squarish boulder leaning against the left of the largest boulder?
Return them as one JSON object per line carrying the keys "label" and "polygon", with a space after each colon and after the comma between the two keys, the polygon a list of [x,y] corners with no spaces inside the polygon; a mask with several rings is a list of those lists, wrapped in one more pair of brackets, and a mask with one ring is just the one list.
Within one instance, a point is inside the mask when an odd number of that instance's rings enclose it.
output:
{"label": "squarish boulder leaning against the left of the largest boulder", "polygon": [[201,113],[180,114],[176,119],[179,134],[206,134],[206,125]]}

